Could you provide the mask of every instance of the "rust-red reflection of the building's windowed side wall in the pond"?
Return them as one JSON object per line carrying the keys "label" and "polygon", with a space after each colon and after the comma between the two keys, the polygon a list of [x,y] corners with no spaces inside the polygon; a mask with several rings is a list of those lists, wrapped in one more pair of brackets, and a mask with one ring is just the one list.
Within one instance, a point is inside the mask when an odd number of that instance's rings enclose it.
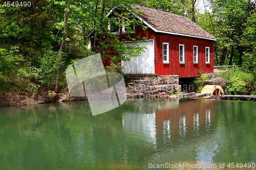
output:
{"label": "rust-red reflection of the building's windowed side wall in the pond", "polygon": [[[214,120],[214,101],[179,101],[173,109],[156,112],[156,137],[163,135],[190,135],[193,131],[209,128]],[[169,134],[169,135],[170,135]]]}

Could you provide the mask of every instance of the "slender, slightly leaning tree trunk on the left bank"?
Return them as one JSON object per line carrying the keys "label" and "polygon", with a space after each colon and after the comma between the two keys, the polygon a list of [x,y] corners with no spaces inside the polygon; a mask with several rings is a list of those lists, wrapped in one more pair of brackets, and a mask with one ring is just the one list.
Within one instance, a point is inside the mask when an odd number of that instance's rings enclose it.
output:
{"label": "slender, slightly leaning tree trunk on the left bank", "polygon": [[60,60],[61,60],[61,58],[62,58],[63,48],[64,48],[65,39],[66,39],[66,35],[67,35],[67,22],[68,22],[68,14],[69,14],[70,1],[71,1],[71,0],[68,1],[66,13],[65,13],[65,18],[64,18],[64,33],[63,33],[62,42],[61,42],[60,50],[59,50],[59,57],[58,57],[58,64],[57,64],[56,86],[55,86],[55,92],[56,92],[56,93],[59,92],[59,69],[60,69]]}

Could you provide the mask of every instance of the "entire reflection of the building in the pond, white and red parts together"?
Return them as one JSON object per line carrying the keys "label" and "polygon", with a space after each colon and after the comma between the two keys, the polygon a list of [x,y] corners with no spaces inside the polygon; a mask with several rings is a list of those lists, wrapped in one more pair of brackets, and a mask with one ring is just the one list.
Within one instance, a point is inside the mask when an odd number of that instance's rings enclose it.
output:
{"label": "entire reflection of the building in the pond, white and red parts together", "polygon": [[[197,132],[211,129],[214,121],[214,101],[210,100],[155,101],[148,106],[144,106],[143,102],[141,104],[134,108],[134,113],[122,115],[123,126],[140,132],[145,139],[158,144],[163,138],[193,137]],[[142,106],[142,110],[148,107],[150,112],[138,113]]]}

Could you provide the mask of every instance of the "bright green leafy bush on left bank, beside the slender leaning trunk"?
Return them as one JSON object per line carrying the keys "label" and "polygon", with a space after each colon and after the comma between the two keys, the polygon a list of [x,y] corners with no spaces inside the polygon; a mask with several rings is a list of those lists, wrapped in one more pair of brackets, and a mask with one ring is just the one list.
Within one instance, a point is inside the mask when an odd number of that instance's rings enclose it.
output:
{"label": "bright green leafy bush on left bank, beside the slender leaning trunk", "polygon": [[[65,54],[63,54],[65,58]],[[44,50],[44,55],[39,59],[40,69],[42,71],[40,83],[48,87],[56,83],[57,64],[60,58],[59,52],[54,52],[51,49]],[[60,61],[60,68],[63,69],[64,60]]]}

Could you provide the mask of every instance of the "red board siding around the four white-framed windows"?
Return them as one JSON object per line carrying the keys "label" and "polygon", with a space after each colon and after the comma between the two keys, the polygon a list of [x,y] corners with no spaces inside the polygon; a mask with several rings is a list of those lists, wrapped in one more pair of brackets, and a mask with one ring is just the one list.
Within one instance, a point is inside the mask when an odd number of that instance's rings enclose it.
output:
{"label": "red board siding around the four white-framed windows", "polygon": [[[163,64],[163,42],[169,43],[169,64]],[[184,44],[185,64],[179,63],[179,44]],[[193,46],[198,46],[198,64],[193,63]],[[210,64],[205,63],[205,47],[210,48]],[[155,40],[155,74],[179,75],[179,78],[198,77],[203,73],[214,72],[214,42],[212,40],[157,34]]]}

